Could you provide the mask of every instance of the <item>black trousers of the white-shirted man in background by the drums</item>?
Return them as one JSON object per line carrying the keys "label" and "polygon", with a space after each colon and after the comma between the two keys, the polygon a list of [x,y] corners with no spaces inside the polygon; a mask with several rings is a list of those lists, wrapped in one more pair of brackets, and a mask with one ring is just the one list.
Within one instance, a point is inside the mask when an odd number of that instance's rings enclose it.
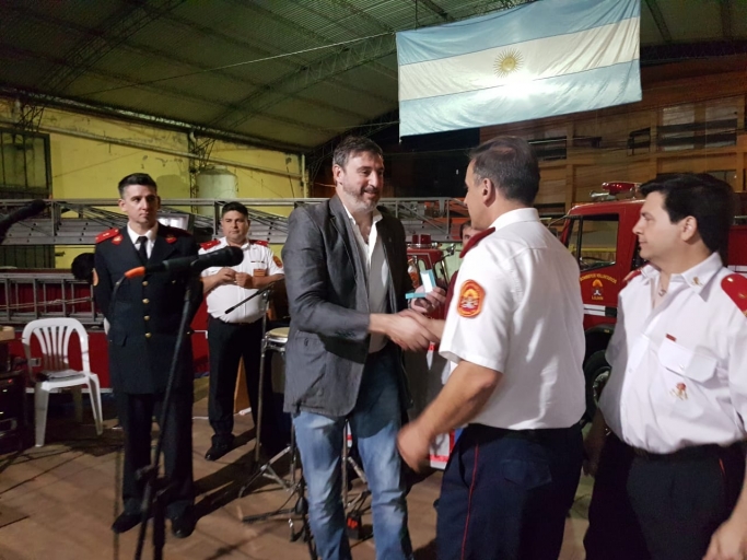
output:
{"label": "black trousers of the white-shirted man in background by the drums", "polygon": [[[210,395],[208,419],[213,429],[213,443],[226,441],[233,431],[233,405],[238,362],[244,358],[246,387],[252,404],[252,418],[257,425],[259,398],[259,362],[261,358],[262,322],[249,324],[224,323],[214,317],[208,322],[210,351]],[[284,447],[289,440],[281,434],[277,421],[277,402],[272,393],[271,354],[265,357],[265,388],[262,392],[261,444],[269,454]],[[290,435],[290,432],[289,432]]]}

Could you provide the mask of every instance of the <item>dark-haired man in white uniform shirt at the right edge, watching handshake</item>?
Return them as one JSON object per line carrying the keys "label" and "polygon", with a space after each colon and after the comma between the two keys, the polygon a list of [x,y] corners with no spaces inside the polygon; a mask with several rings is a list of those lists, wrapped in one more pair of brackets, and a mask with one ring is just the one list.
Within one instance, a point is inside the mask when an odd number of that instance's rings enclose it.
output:
{"label": "dark-haired man in white uniform shirt at the right edge, watching handshake", "polygon": [[747,558],[747,279],[722,264],[734,194],[710,175],[641,187],[641,257],[620,292],[586,438],[588,560]]}

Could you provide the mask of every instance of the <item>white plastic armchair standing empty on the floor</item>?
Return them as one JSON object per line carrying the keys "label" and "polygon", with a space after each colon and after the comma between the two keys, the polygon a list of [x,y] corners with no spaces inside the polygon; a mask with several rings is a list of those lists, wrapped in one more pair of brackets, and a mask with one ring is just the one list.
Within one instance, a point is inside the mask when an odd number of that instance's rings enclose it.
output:
{"label": "white plastic armchair standing empty on the floor", "polygon": [[[81,346],[83,370],[72,370],[68,359],[70,337],[78,332]],[[31,355],[31,340],[36,337],[42,347],[42,371],[34,374]],[[83,420],[83,402],[81,386],[87,385],[91,394],[91,408],[93,419],[96,422],[96,434],[104,432],[103,415],[101,407],[101,384],[98,375],[91,373],[89,358],[89,335],[78,319],[49,318],[32,320],[23,329],[23,349],[26,352],[28,375],[35,381],[34,386],[34,420],[36,425],[36,446],[44,445],[44,435],[47,428],[47,408],[49,393],[56,389],[73,387],[73,400],[75,405],[75,420]]]}

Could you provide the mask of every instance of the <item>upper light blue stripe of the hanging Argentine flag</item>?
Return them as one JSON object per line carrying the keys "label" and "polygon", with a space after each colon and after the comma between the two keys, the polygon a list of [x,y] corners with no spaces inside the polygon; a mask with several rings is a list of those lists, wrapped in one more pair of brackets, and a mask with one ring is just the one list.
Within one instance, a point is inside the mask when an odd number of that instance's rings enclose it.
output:
{"label": "upper light blue stripe of the hanging Argentine flag", "polygon": [[448,58],[640,15],[639,0],[541,0],[464,22],[397,33],[397,60],[405,66]]}

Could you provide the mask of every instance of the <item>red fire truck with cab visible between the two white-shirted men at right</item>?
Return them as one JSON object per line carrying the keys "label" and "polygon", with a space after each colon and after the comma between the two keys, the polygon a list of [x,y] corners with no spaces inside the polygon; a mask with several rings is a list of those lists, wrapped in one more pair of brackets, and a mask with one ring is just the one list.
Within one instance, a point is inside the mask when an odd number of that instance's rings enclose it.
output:
{"label": "red fire truck with cab visible between the two white-shirted men at right", "polygon": [[[563,219],[561,241],[575,256],[581,269],[584,302],[586,354],[586,416],[594,417],[599,394],[609,376],[605,350],[615,329],[618,294],[626,276],[644,262],[639,255],[633,226],[642,200],[633,198],[634,183],[605,183],[605,201],[580,205]],[[746,192],[739,194],[738,214],[747,213]],[[627,200],[626,200],[627,198]],[[726,265],[747,275],[747,224],[737,218],[732,226]]]}

